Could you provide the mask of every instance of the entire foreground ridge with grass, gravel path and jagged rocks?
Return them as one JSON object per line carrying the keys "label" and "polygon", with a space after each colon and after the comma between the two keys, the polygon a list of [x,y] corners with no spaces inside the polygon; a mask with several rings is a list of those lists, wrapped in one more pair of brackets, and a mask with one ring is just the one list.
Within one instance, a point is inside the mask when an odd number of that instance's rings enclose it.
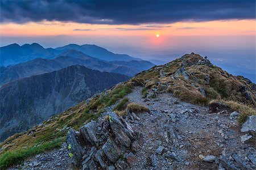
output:
{"label": "entire foreground ridge with grass, gravel path and jagged rocks", "polygon": [[[68,160],[59,149],[42,150],[14,169],[255,169],[253,94],[249,80],[186,54],[10,137],[0,145],[0,167],[19,164],[7,161],[17,158],[10,153],[67,135]],[[44,144],[43,134],[52,136]]]}

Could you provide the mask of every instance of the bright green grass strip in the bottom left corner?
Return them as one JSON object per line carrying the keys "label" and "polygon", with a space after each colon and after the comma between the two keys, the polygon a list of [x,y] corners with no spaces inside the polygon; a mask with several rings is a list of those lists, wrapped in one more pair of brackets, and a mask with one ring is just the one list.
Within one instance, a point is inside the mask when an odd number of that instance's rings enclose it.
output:
{"label": "bright green grass strip in the bottom left corner", "polygon": [[0,169],[7,169],[12,165],[20,164],[31,155],[60,147],[64,141],[65,137],[60,137],[39,146],[32,146],[23,150],[7,151],[0,157]]}

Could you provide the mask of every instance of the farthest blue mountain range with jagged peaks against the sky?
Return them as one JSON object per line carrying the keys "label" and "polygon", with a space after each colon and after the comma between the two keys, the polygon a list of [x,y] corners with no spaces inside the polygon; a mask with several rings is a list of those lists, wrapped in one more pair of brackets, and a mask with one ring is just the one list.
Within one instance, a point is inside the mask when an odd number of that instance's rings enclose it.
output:
{"label": "farthest blue mountain range with jagged peaks against the sky", "polygon": [[43,48],[43,46],[33,43],[24,44],[22,46],[18,44],[10,44],[0,48],[0,66],[15,65],[17,63],[23,63],[31,61],[35,58],[55,58],[63,52],[69,50],[77,50],[91,57],[102,59],[105,61],[131,61],[141,60],[128,56],[127,54],[114,54],[108,50],[101,48],[97,45],[77,45],[69,44],[58,48]]}

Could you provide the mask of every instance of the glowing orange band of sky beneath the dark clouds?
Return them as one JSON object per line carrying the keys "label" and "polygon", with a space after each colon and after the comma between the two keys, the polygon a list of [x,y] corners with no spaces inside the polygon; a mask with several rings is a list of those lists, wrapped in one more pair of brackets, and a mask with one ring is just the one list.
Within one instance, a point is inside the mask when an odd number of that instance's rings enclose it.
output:
{"label": "glowing orange band of sky beneath the dark clouds", "polygon": [[[152,25],[100,25],[63,22],[2,23],[2,36],[237,36],[255,35],[255,20],[230,20],[212,22],[179,22]],[[158,28],[161,27],[161,28]],[[143,29],[146,28],[146,29]],[[85,31],[74,31],[85,29]],[[90,30],[88,30],[90,29]],[[140,30],[137,30],[140,29]],[[150,29],[150,30],[147,30]]]}

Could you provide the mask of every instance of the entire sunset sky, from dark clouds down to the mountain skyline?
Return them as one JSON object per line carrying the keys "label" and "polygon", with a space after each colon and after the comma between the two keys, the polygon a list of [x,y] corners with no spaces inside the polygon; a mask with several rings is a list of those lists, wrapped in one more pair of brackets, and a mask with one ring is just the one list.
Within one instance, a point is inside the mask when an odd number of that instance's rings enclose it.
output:
{"label": "entire sunset sky, from dark clouds down to the mountain skyline", "polygon": [[254,0],[1,0],[0,7],[1,46],[96,44],[162,61],[195,52],[255,78]]}

